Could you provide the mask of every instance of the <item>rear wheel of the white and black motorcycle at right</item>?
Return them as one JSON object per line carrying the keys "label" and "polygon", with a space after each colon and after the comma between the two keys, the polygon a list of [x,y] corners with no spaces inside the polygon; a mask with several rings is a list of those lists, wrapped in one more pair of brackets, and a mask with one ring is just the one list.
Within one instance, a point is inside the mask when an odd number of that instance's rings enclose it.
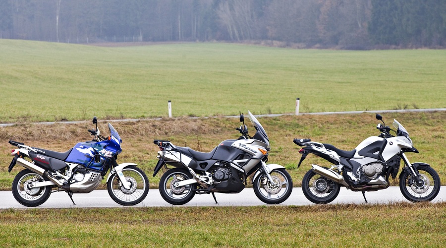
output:
{"label": "rear wheel of the white and black motorcycle at right", "polygon": [[302,191],[311,202],[327,204],[332,202],[339,194],[338,183],[320,176],[309,170],[302,180]]}

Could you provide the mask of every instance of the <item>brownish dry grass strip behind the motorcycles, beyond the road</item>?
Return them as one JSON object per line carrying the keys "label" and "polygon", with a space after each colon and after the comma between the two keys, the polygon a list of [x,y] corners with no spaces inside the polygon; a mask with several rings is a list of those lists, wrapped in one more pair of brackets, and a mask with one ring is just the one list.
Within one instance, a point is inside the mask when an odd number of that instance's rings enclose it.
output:
{"label": "brownish dry grass strip behind the motorcycles, beyond the road", "polygon": [[[431,164],[438,174],[442,185],[446,184],[445,129],[446,112],[432,113],[395,113],[383,114],[386,124],[398,120],[409,131],[414,146],[420,153],[407,153],[409,161]],[[246,120],[248,129],[254,128]],[[328,115],[328,116],[282,116],[276,118],[259,118],[271,142],[269,163],[284,166],[291,174],[294,186],[300,186],[304,174],[311,164],[329,166],[330,164],[314,155],[310,155],[300,168],[296,168],[300,159],[300,147],[293,143],[293,138],[311,138],[322,143],[331,143],[343,150],[354,149],[361,141],[372,135],[379,135],[375,128],[379,122],[373,114]],[[0,190],[10,190],[14,176],[23,170],[16,166],[7,173],[7,166],[13,146],[9,139],[24,142],[33,147],[46,148],[64,152],[77,142],[91,138],[87,128],[93,125],[21,124],[0,128]],[[234,139],[239,133],[234,129],[239,126],[236,118],[200,118],[200,119],[162,119],[161,121],[139,121],[133,123],[113,123],[123,139],[123,152],[118,156],[118,163],[132,162],[138,164],[149,177],[150,186],[158,187],[162,173],[152,177],[156,165],[158,147],[154,139],[168,139],[178,146],[190,146],[192,149],[209,152],[221,141]],[[99,128],[108,135],[107,122],[99,121]],[[402,166],[401,166],[402,167]],[[397,186],[397,180],[390,181]],[[105,185],[103,184],[104,188]]]}

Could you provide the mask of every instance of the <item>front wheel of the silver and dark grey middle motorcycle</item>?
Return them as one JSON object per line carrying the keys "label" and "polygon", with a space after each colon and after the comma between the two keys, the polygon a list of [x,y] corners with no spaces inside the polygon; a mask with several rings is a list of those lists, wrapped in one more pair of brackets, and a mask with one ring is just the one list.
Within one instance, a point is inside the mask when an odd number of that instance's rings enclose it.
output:
{"label": "front wheel of the silver and dark grey middle motorcycle", "polygon": [[270,173],[275,184],[271,184],[265,173],[253,182],[254,193],[267,204],[279,204],[288,199],[293,190],[293,181],[285,169],[272,170]]}

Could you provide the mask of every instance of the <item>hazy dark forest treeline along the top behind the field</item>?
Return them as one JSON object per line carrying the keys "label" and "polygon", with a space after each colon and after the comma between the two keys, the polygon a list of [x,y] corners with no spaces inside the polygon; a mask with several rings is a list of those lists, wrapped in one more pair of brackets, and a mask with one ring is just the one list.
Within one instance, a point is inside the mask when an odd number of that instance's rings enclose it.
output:
{"label": "hazy dark forest treeline along the top behind the field", "polygon": [[444,48],[445,0],[1,0],[0,38]]}

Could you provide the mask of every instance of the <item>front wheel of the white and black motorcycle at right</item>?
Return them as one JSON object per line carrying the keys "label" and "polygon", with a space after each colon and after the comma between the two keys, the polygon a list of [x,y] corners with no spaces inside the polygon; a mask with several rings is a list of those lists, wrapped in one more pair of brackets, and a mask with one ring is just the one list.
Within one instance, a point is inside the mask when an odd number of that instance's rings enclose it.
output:
{"label": "front wheel of the white and black motorcycle at right", "polygon": [[430,166],[418,166],[422,183],[417,185],[412,181],[412,175],[405,170],[401,172],[399,189],[403,196],[412,202],[431,201],[440,192],[440,177]]}

